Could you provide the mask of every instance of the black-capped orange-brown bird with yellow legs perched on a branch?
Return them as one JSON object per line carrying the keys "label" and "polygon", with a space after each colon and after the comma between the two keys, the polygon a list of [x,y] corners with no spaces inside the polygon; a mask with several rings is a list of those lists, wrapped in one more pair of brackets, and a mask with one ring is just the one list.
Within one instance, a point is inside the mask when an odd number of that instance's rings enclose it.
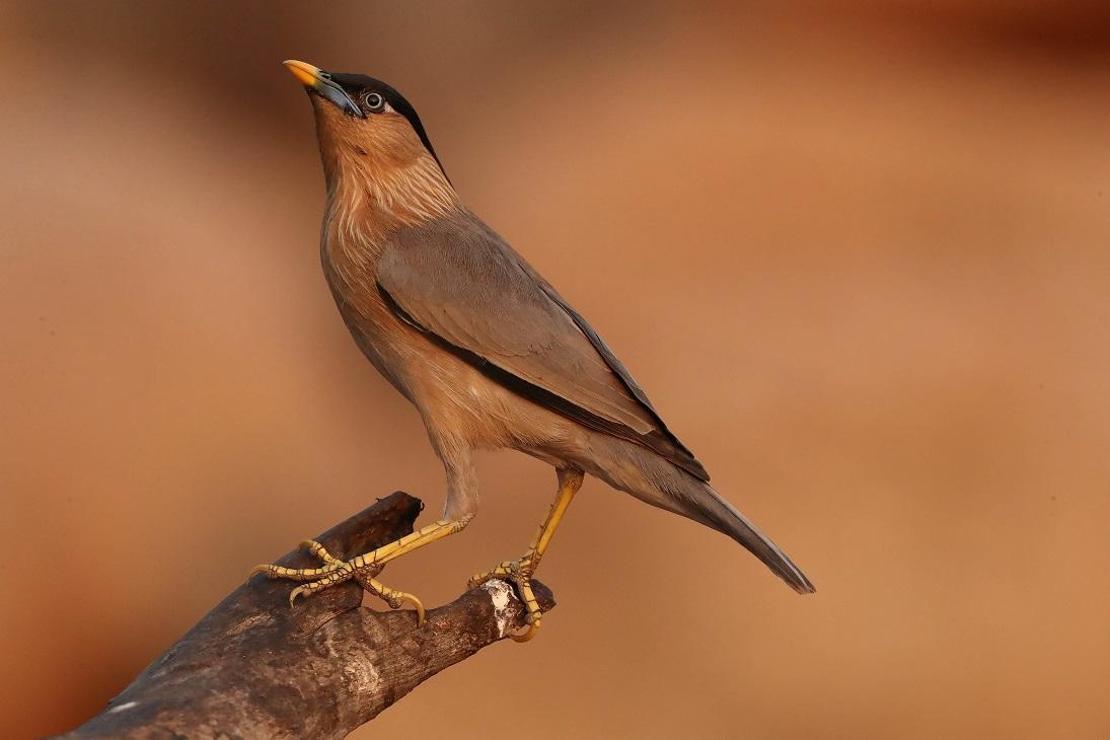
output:
{"label": "black-capped orange-brown bird with yellow legs perched on a branch", "polygon": [[548,463],[555,500],[523,556],[473,576],[531,579],[585,475],[727,535],[800,594],[814,585],[710,485],[616,354],[523,256],[460,200],[412,104],[363,74],[286,60],[312,104],[326,196],[321,262],[355,344],[420,413],[446,473],[436,521],[349,560],[303,545],[316,568],[252,572],[300,582],[290,604],[354,580],[396,609],[422,601],[380,580],[385,564],[461,531],[478,509],[474,454],[513,449]]}

